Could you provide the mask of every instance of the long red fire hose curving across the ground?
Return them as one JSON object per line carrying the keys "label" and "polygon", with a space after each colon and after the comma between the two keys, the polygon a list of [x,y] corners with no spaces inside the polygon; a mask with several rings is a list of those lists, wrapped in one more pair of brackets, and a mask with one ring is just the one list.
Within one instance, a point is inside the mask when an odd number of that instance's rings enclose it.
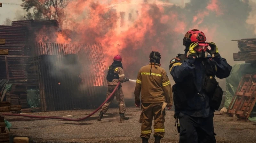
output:
{"label": "long red fire hose curving across the ground", "polygon": [[95,111],[93,111],[91,114],[89,114],[88,116],[84,117],[84,118],[79,118],[79,119],[71,119],[71,118],[62,118],[62,117],[49,117],[49,116],[32,116],[32,115],[21,115],[21,114],[2,114],[2,115],[5,115],[5,116],[22,116],[22,117],[29,117],[29,118],[49,118],[49,119],[61,119],[61,120],[67,120],[67,121],[82,121],[86,118],[89,118],[91,117],[93,114],[95,114],[97,111],[100,110],[100,108],[108,101],[108,99],[110,99],[116,89],[118,88],[120,82],[117,83],[116,85],[116,88],[113,90],[113,92],[110,94],[110,96],[100,105],[99,108],[97,108]]}

